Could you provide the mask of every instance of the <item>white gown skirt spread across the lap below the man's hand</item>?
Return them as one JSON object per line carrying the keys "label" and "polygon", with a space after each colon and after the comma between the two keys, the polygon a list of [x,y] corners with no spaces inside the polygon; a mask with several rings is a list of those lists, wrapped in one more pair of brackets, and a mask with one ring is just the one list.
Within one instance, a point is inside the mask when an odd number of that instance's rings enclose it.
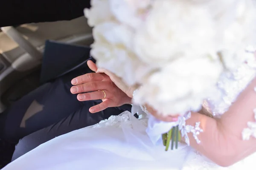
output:
{"label": "white gown skirt spread across the lap below the man's hand", "polygon": [[41,144],[3,170],[178,170],[190,147],[166,152],[128,111]]}

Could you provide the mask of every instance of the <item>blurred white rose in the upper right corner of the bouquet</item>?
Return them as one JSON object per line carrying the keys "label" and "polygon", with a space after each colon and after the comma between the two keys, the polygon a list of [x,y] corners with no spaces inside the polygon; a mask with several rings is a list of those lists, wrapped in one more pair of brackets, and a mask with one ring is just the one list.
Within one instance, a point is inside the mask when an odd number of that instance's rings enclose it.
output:
{"label": "blurred white rose in the upper right corner of the bouquet", "polygon": [[251,0],[239,0],[215,17],[218,34],[222,35],[219,51],[229,71],[235,71],[245,62],[244,49],[255,44],[256,25],[252,23],[256,23],[256,10],[253,5]]}

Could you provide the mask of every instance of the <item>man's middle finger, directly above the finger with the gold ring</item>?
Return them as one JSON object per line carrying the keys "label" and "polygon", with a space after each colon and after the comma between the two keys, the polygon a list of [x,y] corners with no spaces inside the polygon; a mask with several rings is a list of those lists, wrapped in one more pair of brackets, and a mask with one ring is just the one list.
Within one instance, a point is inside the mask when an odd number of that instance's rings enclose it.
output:
{"label": "man's middle finger, directly above the finger with the gold ring", "polygon": [[98,90],[107,90],[112,88],[111,82],[108,81],[100,81],[100,82],[87,82],[81,85],[73,86],[70,91],[72,94],[79,94],[79,93],[86,93],[91,91],[98,91]]}

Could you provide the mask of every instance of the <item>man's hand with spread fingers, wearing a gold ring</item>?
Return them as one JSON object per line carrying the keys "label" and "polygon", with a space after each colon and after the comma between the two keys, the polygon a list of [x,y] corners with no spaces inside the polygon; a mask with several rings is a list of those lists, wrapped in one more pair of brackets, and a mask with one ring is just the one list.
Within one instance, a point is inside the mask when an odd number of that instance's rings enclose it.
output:
{"label": "man's hand with spread fingers, wearing a gold ring", "polygon": [[[88,61],[87,64],[92,71],[97,71],[97,67],[92,61]],[[77,99],[79,101],[102,99],[102,103],[89,109],[91,113],[131,103],[131,98],[104,73],[84,74],[74,78],[71,83],[74,86],[70,91],[72,94],[78,94]],[[103,91],[105,91],[106,97]],[[104,97],[105,99],[103,99]]]}

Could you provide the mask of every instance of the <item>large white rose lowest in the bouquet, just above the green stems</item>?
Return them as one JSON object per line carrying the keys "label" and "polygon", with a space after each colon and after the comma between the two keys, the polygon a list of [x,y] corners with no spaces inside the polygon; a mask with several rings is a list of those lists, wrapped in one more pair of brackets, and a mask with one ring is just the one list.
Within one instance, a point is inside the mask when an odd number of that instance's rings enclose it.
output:
{"label": "large white rose lowest in the bouquet, just above the green stems", "polygon": [[218,60],[177,59],[152,74],[137,92],[134,102],[147,103],[163,115],[198,111],[203,100],[215,93],[221,72]]}

